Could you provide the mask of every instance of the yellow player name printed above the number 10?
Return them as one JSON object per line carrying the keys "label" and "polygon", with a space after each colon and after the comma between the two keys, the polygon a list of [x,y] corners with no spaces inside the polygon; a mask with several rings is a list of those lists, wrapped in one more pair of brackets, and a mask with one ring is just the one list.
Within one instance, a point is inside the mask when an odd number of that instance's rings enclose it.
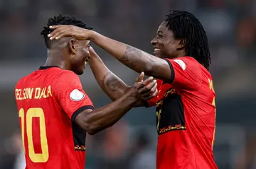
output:
{"label": "yellow player name printed above the number 10", "polygon": [[16,100],[41,99],[52,97],[50,86],[44,88],[16,88]]}

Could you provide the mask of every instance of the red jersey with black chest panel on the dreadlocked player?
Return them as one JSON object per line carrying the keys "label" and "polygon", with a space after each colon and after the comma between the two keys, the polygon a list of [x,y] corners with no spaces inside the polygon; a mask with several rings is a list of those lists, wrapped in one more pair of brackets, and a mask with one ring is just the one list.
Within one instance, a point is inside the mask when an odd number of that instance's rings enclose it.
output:
{"label": "red jersey with black chest panel on the dreadlocked player", "polygon": [[157,169],[215,169],[215,92],[205,67],[192,57],[166,59],[171,81],[157,80],[156,105],[159,134]]}

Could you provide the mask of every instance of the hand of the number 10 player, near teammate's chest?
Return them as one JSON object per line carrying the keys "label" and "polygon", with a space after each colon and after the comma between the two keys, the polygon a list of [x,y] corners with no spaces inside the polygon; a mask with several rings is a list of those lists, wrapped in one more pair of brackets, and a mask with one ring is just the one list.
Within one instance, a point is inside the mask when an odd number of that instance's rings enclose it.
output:
{"label": "hand of the number 10 player, near teammate's chest", "polygon": [[[141,74],[141,76],[137,78],[137,81],[142,81],[142,76],[144,75]],[[138,104],[142,101],[144,102],[154,98],[158,93],[156,87],[157,83],[153,77],[146,78],[146,80],[142,82],[136,82],[134,86],[132,86],[132,90],[130,90],[130,98],[134,99]]]}

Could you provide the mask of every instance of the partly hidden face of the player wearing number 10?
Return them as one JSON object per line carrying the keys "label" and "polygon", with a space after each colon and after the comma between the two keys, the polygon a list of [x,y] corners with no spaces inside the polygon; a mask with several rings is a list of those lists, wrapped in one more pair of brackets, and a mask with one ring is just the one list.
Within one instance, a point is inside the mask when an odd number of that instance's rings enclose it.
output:
{"label": "partly hidden face of the player wearing number 10", "polygon": [[75,74],[84,73],[86,64],[90,59],[89,47],[90,40],[78,40],[75,43],[75,52],[70,57],[71,71],[74,71]]}

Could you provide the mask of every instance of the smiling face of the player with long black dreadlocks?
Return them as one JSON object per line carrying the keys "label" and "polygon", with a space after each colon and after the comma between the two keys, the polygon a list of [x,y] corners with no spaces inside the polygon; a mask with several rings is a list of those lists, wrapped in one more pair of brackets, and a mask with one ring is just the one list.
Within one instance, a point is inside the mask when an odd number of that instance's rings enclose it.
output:
{"label": "smiling face of the player with long black dreadlocks", "polygon": [[181,40],[174,38],[174,33],[166,27],[166,21],[161,23],[159,29],[156,32],[156,37],[151,40],[151,44],[154,46],[154,54],[160,58],[176,58],[180,57]]}

